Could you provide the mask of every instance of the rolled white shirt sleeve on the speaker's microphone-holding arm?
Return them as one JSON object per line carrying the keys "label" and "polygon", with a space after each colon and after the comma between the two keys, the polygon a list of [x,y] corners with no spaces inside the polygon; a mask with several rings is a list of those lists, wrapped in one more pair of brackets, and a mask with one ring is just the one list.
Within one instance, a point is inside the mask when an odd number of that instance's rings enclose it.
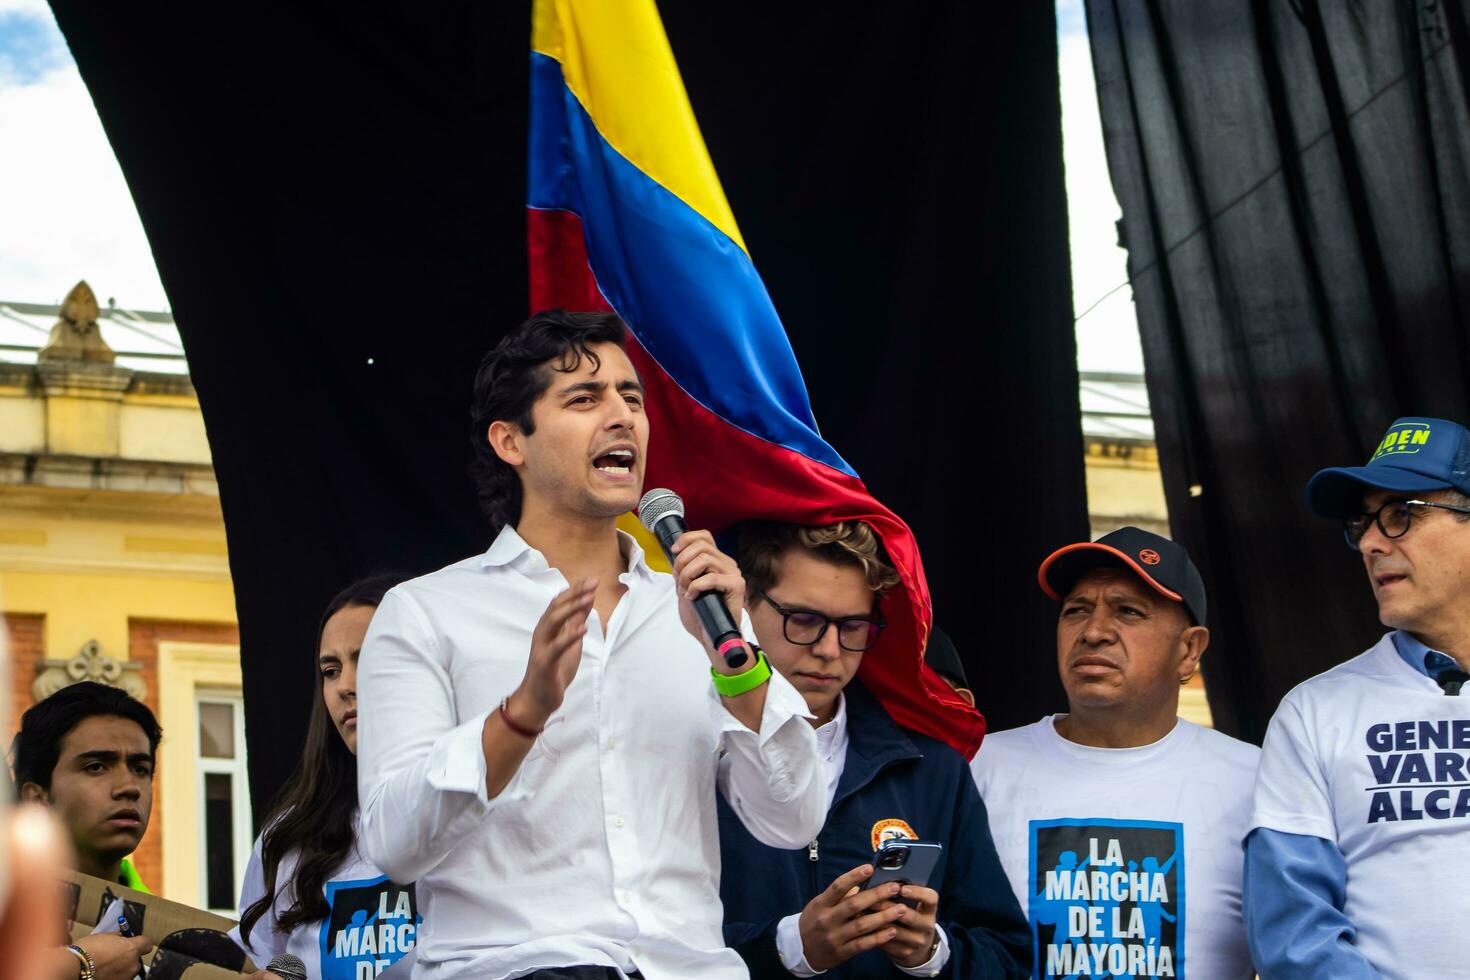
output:
{"label": "rolled white shirt sleeve on the speaker's microphone-holding arm", "polygon": [[719,786],[751,836],[772,848],[804,848],[826,821],[826,771],[807,702],[779,671],[770,671],[760,730],[732,716],[714,686],[720,718]]}

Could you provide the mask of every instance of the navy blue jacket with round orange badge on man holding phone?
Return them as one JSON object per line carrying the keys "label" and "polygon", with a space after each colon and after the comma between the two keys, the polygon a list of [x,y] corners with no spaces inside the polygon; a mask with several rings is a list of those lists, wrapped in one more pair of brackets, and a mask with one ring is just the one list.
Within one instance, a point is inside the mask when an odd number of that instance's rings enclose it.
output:
{"label": "navy blue jacket with round orange badge on man holding phone", "polygon": [[[776,923],[800,914],[819,892],[873,860],[873,827],[906,821],[920,840],[944,845],[938,868],[939,926],[950,937],[941,977],[1029,977],[1030,927],[995,854],[985,804],[970,767],[948,745],[900,729],[858,682],[847,686],[847,763],[826,826],[813,848],[779,851],[720,813],[720,898],[725,942],[753,980],[789,980],[776,955]],[[882,949],[870,949],[823,977],[907,980]]]}

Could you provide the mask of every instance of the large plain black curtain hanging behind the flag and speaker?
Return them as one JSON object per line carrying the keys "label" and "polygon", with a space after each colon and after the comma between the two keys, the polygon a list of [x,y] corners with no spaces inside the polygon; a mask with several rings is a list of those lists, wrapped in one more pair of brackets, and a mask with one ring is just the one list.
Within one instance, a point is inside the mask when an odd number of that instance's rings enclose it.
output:
{"label": "large plain black curtain hanging behind the flag and speaker", "polygon": [[[529,3],[53,7],[204,408],[260,815],[326,598],[488,544],[469,383],[528,311]],[[914,526],[991,727],[1054,710],[1033,572],[1086,517],[1051,6],[663,15],[825,435]]]}

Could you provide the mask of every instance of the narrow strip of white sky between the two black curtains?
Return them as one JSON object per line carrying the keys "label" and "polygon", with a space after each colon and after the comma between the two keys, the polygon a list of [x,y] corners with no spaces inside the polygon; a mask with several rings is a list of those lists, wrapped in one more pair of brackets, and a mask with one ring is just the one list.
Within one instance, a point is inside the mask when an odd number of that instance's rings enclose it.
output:
{"label": "narrow strip of white sky between the two black curtains", "polygon": [[[1082,0],[1058,0],[1057,37],[1061,73],[1061,151],[1067,170],[1075,314],[1127,281],[1127,253],[1117,247],[1122,210],[1113,194],[1102,145],[1092,50],[1083,28]],[[1142,372],[1133,292],[1123,287],[1078,322],[1082,370]]]}

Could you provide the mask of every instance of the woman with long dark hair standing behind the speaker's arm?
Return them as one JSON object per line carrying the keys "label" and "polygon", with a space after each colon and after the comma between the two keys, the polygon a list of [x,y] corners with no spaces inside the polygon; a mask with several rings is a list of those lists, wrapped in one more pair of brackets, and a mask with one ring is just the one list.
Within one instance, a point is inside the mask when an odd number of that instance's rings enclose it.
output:
{"label": "woman with long dark hair standing behind the speaker's arm", "polygon": [[240,892],[234,937],[259,967],[288,952],[313,980],[356,980],[359,964],[376,977],[413,949],[413,886],[388,880],[357,851],[357,655],[373,611],[401,580],[354,582],[322,614],[301,761],[266,818]]}

